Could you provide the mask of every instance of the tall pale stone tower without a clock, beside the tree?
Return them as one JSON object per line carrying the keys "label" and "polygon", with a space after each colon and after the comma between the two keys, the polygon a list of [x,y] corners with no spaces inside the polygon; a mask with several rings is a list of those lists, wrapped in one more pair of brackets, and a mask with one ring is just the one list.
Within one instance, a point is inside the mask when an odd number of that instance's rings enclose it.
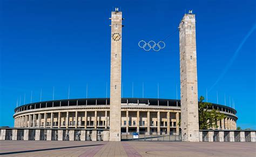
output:
{"label": "tall pale stone tower without a clock, beside the tree", "polygon": [[196,19],[185,14],[179,24],[181,136],[199,142]]}

